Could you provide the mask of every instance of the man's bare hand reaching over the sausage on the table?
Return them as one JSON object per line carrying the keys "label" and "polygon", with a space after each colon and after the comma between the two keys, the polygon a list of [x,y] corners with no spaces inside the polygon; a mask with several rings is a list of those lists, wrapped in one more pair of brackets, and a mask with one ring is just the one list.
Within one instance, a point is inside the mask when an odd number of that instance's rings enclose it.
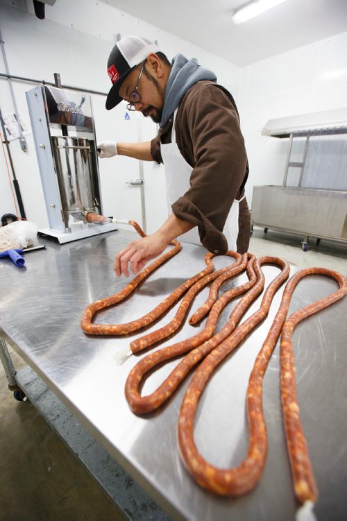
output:
{"label": "man's bare hand reaching over the sausage on the table", "polygon": [[169,244],[160,233],[155,232],[149,237],[144,237],[133,241],[124,250],[121,250],[115,257],[115,272],[117,277],[123,273],[129,276],[128,264],[134,275],[138,273],[149,262],[158,257]]}

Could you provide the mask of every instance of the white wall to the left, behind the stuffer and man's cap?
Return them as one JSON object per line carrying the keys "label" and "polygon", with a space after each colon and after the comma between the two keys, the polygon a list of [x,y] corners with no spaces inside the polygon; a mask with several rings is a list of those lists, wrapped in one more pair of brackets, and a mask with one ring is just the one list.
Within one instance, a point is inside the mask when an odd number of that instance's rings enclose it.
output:
{"label": "white wall to the left, behind the stuffer and man's cap", "polygon": [[[158,40],[160,49],[169,59],[178,52],[188,58],[198,58],[205,67],[214,70],[219,81],[226,85],[237,99],[238,67],[103,1],[58,0],[53,7],[46,6],[46,17],[39,20],[33,14],[31,0],[0,0],[0,29],[10,73],[17,76],[53,82],[53,73],[58,72],[65,85],[107,93],[110,80],[106,72],[106,63],[116,42],[117,33],[123,36],[139,34],[149,37],[150,40]],[[5,72],[2,56],[0,71]],[[18,110],[30,124],[25,92],[34,85],[14,81],[13,87]],[[121,126],[115,112],[104,108],[105,97],[92,97],[98,139],[124,139],[124,136],[117,132],[117,128]],[[3,114],[13,110],[8,82],[4,78],[0,78],[0,106]],[[145,128],[146,139],[154,137],[155,126],[153,125],[153,136],[148,136],[148,125]],[[137,141],[137,136],[134,135],[132,140]],[[48,221],[32,135],[27,137],[27,144],[28,151],[24,153],[19,146],[19,140],[16,139],[10,143],[10,150],[22,191],[26,217],[44,228]],[[115,206],[117,193],[120,191],[117,169],[124,169],[130,161],[135,161],[126,158],[125,162],[117,163],[119,159],[99,162],[103,210],[108,215],[117,215]],[[162,169],[158,166],[146,165],[146,174],[151,172],[153,176],[161,176],[162,179]],[[157,189],[163,190],[162,182],[158,183]],[[164,200],[164,193],[158,194],[158,200]],[[4,156],[0,151],[0,214],[5,212],[15,213],[15,207]],[[131,214],[131,211],[129,213]],[[131,215],[127,217],[131,218]],[[152,219],[149,232],[154,231],[154,225]]]}

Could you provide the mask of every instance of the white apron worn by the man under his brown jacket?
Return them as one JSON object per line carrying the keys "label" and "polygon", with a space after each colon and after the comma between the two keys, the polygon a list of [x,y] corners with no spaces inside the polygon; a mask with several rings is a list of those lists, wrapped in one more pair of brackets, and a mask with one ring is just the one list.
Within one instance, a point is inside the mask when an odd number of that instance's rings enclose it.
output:
{"label": "white apron worn by the man under his brown jacket", "polygon": [[[172,124],[171,143],[160,145],[167,185],[167,208],[169,214],[172,213],[171,205],[189,190],[189,180],[192,173],[192,166],[187,163],[183,155],[180,153],[180,149],[176,143],[176,113],[177,109]],[[243,198],[244,197],[240,200],[234,200],[223,228],[223,234],[226,236],[226,240],[228,241],[228,249],[232,251],[237,250],[236,241],[237,235],[239,234],[239,203]],[[198,236],[198,227],[195,226],[195,228],[192,228],[189,232],[180,235],[179,240],[201,246],[201,241]],[[219,251],[215,250],[214,253],[219,253]]]}

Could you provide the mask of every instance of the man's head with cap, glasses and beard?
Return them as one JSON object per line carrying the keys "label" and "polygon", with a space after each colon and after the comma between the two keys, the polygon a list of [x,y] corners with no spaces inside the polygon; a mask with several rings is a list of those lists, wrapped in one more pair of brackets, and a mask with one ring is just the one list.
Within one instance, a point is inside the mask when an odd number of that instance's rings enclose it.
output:
{"label": "man's head with cap, glasses and beard", "polygon": [[122,100],[129,110],[160,122],[164,93],[171,65],[158,46],[144,37],[126,36],[119,40],[108,58],[108,75],[113,83],[106,108]]}

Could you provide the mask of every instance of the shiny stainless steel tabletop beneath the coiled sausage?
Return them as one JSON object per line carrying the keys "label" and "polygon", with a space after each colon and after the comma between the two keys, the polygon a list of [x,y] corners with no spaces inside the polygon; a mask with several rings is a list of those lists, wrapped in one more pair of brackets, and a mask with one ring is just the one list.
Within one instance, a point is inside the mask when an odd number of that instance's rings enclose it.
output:
{"label": "shiny stainless steel tabletop beneath the coiled sausage", "polygon": [[[134,416],[124,398],[126,377],[139,357],[119,364],[131,336],[86,336],[80,329],[89,302],[119,291],[128,282],[116,279],[112,260],[132,232],[111,232],[65,245],[46,241],[46,250],[26,257],[26,268],[8,259],[0,262],[1,330],[15,349],[81,421],[108,453],[132,475],[167,513],[189,520],[293,520],[297,505],[291,487],[279,395],[279,352],[276,347],[264,379],[264,411],[269,453],[260,484],[244,497],[215,497],[196,486],[178,455],[176,425],[187,381],[170,402],[147,418]],[[178,285],[200,271],[205,250],[185,244],[183,251],[158,269],[139,291],[121,306],[103,312],[101,322],[123,323],[144,315]],[[217,257],[217,268],[229,259]],[[292,273],[296,268],[292,268]],[[266,284],[278,273],[265,266]],[[246,280],[245,275],[228,282]],[[307,277],[298,286],[290,311],[334,291],[325,277]],[[269,317],[217,370],[201,400],[196,421],[196,443],[217,466],[240,463],[248,440],[245,395],[253,361],[276,314],[282,289]],[[191,312],[207,295],[204,290]],[[226,322],[230,304],[221,317]],[[246,316],[260,305],[258,299]],[[167,323],[177,306],[162,318]],[[303,427],[319,487],[316,515],[321,520],[346,518],[347,485],[347,299],[308,318],[294,334],[298,398]],[[158,323],[146,331],[159,327]],[[200,327],[203,327],[201,325]],[[185,325],[174,339],[187,338],[198,328]],[[158,349],[158,348],[157,348]],[[144,355],[142,355],[144,356]],[[176,364],[171,362],[144,384],[151,392]]]}

